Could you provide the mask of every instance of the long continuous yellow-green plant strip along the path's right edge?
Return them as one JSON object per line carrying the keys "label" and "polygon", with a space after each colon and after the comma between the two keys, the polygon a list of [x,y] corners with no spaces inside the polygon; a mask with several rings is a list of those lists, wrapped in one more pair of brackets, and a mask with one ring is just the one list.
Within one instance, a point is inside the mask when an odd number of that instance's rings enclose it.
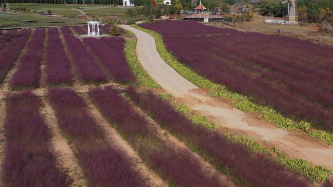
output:
{"label": "long continuous yellow-green plant strip along the path's right edge", "polygon": [[142,28],[138,25],[132,25],[132,27],[144,31],[153,36],[156,41],[156,49],[160,53],[163,60],[166,61],[166,63],[169,66],[174,68],[180,75],[185,77],[185,79],[192,82],[194,85],[210,89],[210,95],[212,97],[229,99],[236,108],[246,113],[259,112],[261,113],[262,117],[264,117],[268,121],[274,122],[279,128],[288,129],[288,130],[300,129],[306,132],[310,136],[321,139],[322,141],[326,142],[329,145],[333,145],[332,133],[313,130],[311,128],[312,124],[308,121],[302,120],[297,122],[293,119],[283,117],[281,114],[279,114],[275,109],[273,109],[270,106],[258,105],[254,102],[251,102],[248,97],[242,96],[238,93],[228,90],[225,85],[216,84],[209,81],[208,79],[203,78],[199,74],[187,68],[184,64],[178,62],[176,58],[166,50],[166,47],[163,43],[162,35],[154,31]]}

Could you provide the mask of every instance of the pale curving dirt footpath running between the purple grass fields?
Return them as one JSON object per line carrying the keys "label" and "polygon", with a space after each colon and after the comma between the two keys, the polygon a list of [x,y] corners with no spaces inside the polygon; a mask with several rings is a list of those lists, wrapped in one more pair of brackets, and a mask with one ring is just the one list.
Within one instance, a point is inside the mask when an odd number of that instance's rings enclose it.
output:
{"label": "pale curving dirt footpath running between the purple grass fields", "polygon": [[311,136],[277,128],[256,114],[244,113],[228,102],[210,97],[206,90],[193,85],[166,64],[156,50],[152,36],[127,25],[121,27],[130,30],[138,38],[136,54],[148,74],[177,100],[221,127],[246,133],[268,147],[277,146],[290,156],[333,169],[333,146]]}

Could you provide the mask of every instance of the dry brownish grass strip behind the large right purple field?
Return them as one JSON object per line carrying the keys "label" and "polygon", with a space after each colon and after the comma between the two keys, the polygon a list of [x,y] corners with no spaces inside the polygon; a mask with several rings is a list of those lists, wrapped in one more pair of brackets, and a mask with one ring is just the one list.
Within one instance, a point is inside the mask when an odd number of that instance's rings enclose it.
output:
{"label": "dry brownish grass strip behind the large right purple field", "polygon": [[[333,32],[331,33],[320,33],[318,32],[318,24],[309,24],[306,26],[301,25],[279,25],[264,23],[265,19],[272,19],[272,17],[262,17],[258,14],[254,14],[251,22],[244,23],[233,23],[226,25],[224,23],[214,23],[212,26],[217,27],[228,27],[237,29],[240,31],[251,31],[266,34],[277,34],[277,29],[281,30],[282,35],[298,37],[302,39],[308,39],[316,43],[333,45]],[[277,19],[273,17],[273,19]]]}

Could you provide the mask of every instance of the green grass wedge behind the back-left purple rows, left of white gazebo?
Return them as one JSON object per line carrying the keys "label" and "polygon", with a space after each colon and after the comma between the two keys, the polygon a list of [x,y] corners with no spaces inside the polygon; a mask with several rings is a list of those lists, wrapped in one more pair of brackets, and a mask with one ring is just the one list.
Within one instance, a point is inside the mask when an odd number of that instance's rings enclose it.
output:
{"label": "green grass wedge behind the back-left purple rows, left of white gazebo", "polygon": [[[42,22],[36,22],[36,21],[42,21]],[[0,12],[0,29],[38,27],[38,26],[78,25],[85,23],[86,23],[85,20],[73,19],[69,17],[47,17],[47,16],[38,16],[25,13]]]}

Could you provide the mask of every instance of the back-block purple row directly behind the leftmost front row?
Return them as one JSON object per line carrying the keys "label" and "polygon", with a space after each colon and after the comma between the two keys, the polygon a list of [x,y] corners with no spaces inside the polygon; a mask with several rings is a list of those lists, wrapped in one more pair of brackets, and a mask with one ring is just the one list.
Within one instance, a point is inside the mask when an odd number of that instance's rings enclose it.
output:
{"label": "back-block purple row directly behind the leftmost front row", "polygon": [[19,59],[18,68],[12,77],[12,88],[38,86],[45,35],[45,29],[36,29],[32,34],[26,52]]}

